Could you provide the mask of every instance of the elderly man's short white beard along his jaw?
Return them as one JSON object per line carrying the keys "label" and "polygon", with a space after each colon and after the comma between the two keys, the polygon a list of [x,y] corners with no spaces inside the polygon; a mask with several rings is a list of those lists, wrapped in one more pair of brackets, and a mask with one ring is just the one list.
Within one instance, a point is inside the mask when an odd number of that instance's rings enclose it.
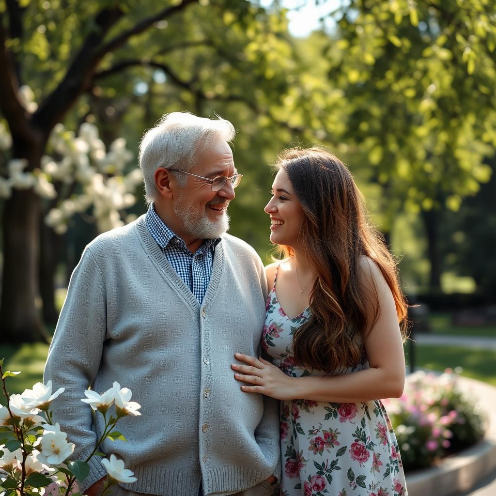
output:
{"label": "elderly man's short white beard along his jaw", "polygon": [[191,207],[181,205],[183,196],[181,195],[174,202],[174,213],[183,220],[183,229],[189,236],[194,236],[200,240],[212,240],[220,238],[229,230],[229,215],[223,212],[216,221],[211,221],[204,210],[194,211]]}

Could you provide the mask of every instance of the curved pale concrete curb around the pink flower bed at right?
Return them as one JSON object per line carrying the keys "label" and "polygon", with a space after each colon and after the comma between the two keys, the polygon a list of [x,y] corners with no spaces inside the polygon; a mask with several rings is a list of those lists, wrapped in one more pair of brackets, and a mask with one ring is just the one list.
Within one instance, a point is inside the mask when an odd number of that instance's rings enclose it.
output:
{"label": "curved pale concrete curb around the pink flower bed at right", "polygon": [[460,377],[459,387],[470,395],[487,417],[485,438],[438,466],[406,474],[409,496],[453,496],[470,491],[496,470],[496,387]]}

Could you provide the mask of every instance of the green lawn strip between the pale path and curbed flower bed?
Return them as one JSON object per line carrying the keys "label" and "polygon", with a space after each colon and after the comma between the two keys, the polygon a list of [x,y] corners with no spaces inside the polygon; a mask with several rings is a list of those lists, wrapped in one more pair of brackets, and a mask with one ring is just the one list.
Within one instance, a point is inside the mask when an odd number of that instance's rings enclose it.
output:
{"label": "green lawn strip between the pale path and curbed flower bed", "polygon": [[[405,346],[407,365],[408,344]],[[461,375],[489,382],[496,386],[496,351],[469,350],[459,346],[415,345],[415,367],[443,371],[462,367]]]}

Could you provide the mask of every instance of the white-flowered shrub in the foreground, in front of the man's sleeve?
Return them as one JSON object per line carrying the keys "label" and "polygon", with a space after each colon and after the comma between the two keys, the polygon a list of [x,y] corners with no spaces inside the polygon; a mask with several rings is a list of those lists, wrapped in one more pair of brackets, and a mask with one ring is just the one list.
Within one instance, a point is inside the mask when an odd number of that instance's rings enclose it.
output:
{"label": "white-flowered shrub in the foreground, in front of the man's sleeve", "polygon": [[[83,481],[89,473],[88,461],[93,456],[106,456],[97,451],[100,443],[109,438],[125,441],[123,434],[115,430],[119,420],[126,416],[141,415],[140,405],[131,399],[131,391],[118,382],[103,394],[87,390],[81,401],[89,404],[105,420],[105,428],[95,449],[86,460],[67,458],[74,451],[74,444],[67,441],[67,434],[53,425],[50,404],[60,396],[64,388],[52,393],[52,382],[37,382],[32,389],[21,394],[9,395],[5,385],[6,377],[15,377],[20,372],[3,372],[0,360],[0,374],[3,394],[7,406],[0,406],[0,492],[4,496],[81,496],[77,493],[75,481]],[[109,410],[115,405],[115,416]],[[103,458],[102,465],[107,477],[101,496],[110,494],[109,488],[118,482],[136,481],[134,474],[124,468],[124,462],[114,454]]]}

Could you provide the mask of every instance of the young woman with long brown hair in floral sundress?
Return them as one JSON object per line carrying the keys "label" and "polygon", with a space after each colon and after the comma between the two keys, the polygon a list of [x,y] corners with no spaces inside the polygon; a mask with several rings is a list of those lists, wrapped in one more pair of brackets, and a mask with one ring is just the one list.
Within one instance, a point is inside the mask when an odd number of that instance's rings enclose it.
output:
{"label": "young woman with long brown hair in floral sundress", "polygon": [[[406,496],[380,398],[403,393],[407,303],[343,163],[320,148],[278,161],[262,346],[236,354],[246,393],[281,400],[283,496]],[[401,324],[401,328],[400,328]]]}

